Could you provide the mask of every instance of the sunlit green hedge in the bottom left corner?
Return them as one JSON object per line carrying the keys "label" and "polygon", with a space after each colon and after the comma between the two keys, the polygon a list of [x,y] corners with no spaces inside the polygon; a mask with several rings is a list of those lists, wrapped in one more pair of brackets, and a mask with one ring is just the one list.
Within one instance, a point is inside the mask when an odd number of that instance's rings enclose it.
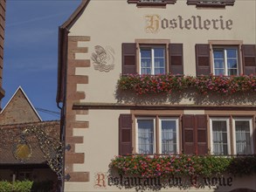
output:
{"label": "sunlit green hedge in the bottom left corner", "polygon": [[30,192],[33,182],[0,182],[1,192]]}

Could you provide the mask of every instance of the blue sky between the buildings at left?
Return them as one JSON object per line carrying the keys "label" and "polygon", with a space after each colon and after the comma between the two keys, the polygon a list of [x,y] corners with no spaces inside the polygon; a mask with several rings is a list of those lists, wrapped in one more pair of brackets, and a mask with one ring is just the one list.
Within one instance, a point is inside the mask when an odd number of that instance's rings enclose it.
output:
{"label": "blue sky between the buildings at left", "polygon": [[[58,28],[79,4],[80,0],[7,1],[2,107],[22,86],[34,107],[59,112]],[[56,114],[38,113],[43,120],[59,119]]]}

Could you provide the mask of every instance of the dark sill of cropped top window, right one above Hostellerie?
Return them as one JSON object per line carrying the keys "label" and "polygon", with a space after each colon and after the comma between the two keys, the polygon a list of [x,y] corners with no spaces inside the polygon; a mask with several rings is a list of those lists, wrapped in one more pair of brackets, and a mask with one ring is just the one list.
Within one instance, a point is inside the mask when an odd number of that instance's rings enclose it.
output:
{"label": "dark sill of cropped top window, right one above Hostellerie", "polygon": [[187,4],[195,4],[197,7],[218,7],[234,5],[235,0],[187,0]]}

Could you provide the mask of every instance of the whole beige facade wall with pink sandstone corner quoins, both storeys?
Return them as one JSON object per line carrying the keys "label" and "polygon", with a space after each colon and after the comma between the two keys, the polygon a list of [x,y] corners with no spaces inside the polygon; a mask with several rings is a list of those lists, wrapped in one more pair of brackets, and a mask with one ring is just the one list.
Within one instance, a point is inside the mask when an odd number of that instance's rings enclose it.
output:
{"label": "whole beige facade wall with pink sandstone corner quoins, both storeys", "polygon": [[[120,98],[120,95],[116,93],[116,84],[121,75],[122,43],[135,43],[136,39],[167,39],[170,40],[170,43],[183,43],[184,74],[195,76],[196,44],[208,44],[212,40],[256,44],[255,6],[255,0],[237,0],[234,6],[226,6],[225,9],[198,9],[194,5],[187,5],[185,1],[168,4],[165,9],[138,8],[135,4],[128,4],[126,0],[90,1],[86,10],[73,24],[68,35],[66,143],[72,143],[72,148],[66,152],[66,173],[71,173],[71,181],[65,182],[65,191],[120,191],[115,187],[100,187],[97,185],[97,176],[98,174],[107,174],[111,159],[118,154],[118,118],[121,113],[130,113],[130,110],[74,110],[73,104],[116,104],[118,102],[127,104],[133,102]],[[246,10],[248,14],[241,14],[241,10]],[[224,22],[229,22],[230,29],[188,30],[176,28],[172,30],[159,28],[159,31],[153,33],[145,29],[148,26],[146,18],[152,15],[157,15],[161,19],[176,19],[178,17],[189,19],[193,16],[202,19],[222,18]],[[106,50],[107,47],[113,48],[113,70],[100,72],[94,69],[91,57],[97,45]],[[75,98],[75,93],[80,95]],[[125,96],[130,98],[129,94]],[[200,97],[203,96],[193,99],[181,98],[174,103],[167,99],[162,104],[203,105],[204,103],[199,102]],[[215,102],[216,97],[212,96],[209,99],[210,104],[219,105]],[[244,99],[245,97],[246,99]],[[255,105],[255,93],[249,96],[236,95],[225,104]],[[185,110],[183,113],[204,114],[205,111]],[[77,122],[83,122],[83,125],[80,126]],[[72,173],[86,174],[86,181],[82,180],[80,175],[72,175]],[[230,191],[237,185],[256,189],[254,179],[255,175],[250,178],[234,178],[232,188],[228,189],[190,189],[190,191]],[[176,191],[177,189],[166,190]],[[135,189],[129,191],[135,191]]]}

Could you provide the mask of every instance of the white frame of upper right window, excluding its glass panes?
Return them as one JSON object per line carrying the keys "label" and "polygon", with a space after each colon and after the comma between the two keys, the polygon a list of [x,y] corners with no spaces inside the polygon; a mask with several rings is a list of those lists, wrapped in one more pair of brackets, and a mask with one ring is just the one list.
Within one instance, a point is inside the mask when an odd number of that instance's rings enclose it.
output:
{"label": "white frame of upper right window, excluding its glass panes", "polygon": [[[228,49],[236,49],[236,60],[237,60],[237,74],[236,75],[228,75],[228,62],[227,62],[227,50]],[[211,51],[211,67],[212,67],[212,74],[215,75],[215,76],[219,76],[217,74],[215,74],[215,63],[214,63],[214,50],[223,50],[224,51],[224,66],[225,66],[225,74],[222,74],[223,76],[239,76],[239,74],[241,73],[240,72],[240,69],[241,69],[241,63],[239,62],[239,46],[236,46],[236,45],[212,45],[212,51]]]}

